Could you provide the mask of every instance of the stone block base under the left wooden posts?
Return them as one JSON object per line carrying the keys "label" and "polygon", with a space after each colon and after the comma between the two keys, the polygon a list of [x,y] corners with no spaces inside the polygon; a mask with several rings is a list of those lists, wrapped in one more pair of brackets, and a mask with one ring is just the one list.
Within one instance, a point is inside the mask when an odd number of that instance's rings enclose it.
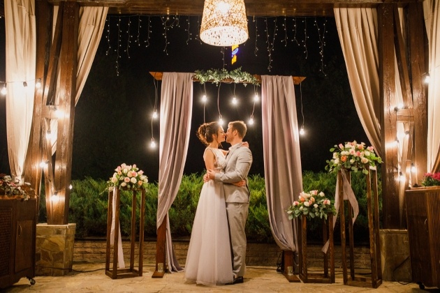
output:
{"label": "stone block base under the left wooden posts", "polygon": [[76,224],[36,227],[36,276],[64,276],[72,270]]}

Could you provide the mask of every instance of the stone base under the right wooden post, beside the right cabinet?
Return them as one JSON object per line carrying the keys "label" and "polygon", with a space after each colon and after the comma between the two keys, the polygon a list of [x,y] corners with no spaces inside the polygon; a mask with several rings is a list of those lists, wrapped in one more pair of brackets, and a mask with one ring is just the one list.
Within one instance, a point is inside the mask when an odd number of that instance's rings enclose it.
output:
{"label": "stone base under the right wooden post, beside the right cabinet", "polygon": [[412,282],[407,230],[380,230],[382,279]]}

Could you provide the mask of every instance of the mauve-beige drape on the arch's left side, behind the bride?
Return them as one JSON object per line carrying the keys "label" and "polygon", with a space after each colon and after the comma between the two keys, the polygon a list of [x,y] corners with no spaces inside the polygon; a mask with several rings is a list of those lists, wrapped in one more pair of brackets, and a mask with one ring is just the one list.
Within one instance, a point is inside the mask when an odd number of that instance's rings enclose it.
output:
{"label": "mauve-beige drape on the arch's left side, behind the bride", "polygon": [[[168,215],[182,181],[186,153],[188,153],[189,135],[191,134],[192,77],[193,73],[163,73],[162,77],[157,228]],[[200,160],[203,160],[201,155]],[[182,271],[174,253],[168,216],[166,220],[168,269]]]}

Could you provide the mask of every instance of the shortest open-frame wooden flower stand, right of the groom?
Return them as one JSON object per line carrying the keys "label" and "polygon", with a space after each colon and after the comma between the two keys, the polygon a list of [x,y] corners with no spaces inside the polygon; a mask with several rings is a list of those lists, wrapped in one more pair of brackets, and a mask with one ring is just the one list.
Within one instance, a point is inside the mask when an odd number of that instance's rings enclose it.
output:
{"label": "shortest open-frame wooden flower stand, right of the groom", "polygon": [[[328,221],[323,220],[323,241],[329,240],[328,252],[323,253],[323,273],[309,273],[307,271],[307,218],[302,215],[298,243],[300,246],[300,280],[303,283],[335,283],[335,249],[333,244],[333,215],[328,216]],[[328,274],[328,255],[330,255],[330,275]]]}

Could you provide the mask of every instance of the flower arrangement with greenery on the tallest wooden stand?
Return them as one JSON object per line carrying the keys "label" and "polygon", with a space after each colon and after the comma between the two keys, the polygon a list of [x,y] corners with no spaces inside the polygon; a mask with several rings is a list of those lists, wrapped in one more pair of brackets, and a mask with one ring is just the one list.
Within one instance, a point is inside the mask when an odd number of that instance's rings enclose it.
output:
{"label": "flower arrangement with greenery on the tallest wooden stand", "polygon": [[382,159],[376,156],[373,147],[365,147],[365,143],[358,144],[356,141],[346,142],[345,144],[338,144],[332,147],[330,151],[333,153],[333,158],[327,160],[328,165],[325,170],[328,172],[338,172],[342,168],[368,174],[369,167],[375,167],[376,163],[382,163]]}

